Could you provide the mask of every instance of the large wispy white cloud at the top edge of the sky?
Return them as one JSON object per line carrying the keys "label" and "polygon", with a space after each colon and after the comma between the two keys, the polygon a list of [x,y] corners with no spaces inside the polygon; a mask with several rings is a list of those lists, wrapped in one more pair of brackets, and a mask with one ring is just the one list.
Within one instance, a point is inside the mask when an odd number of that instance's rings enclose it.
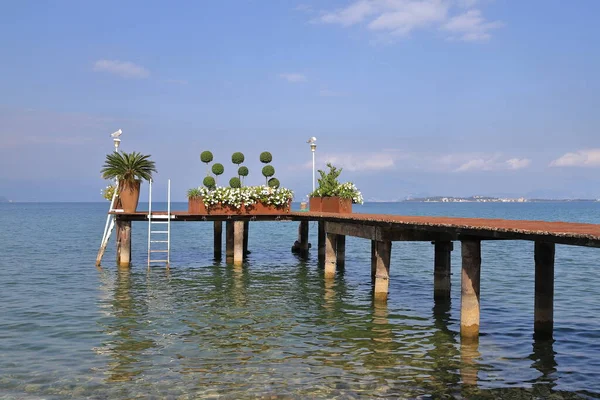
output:
{"label": "large wispy white cloud at the top edge of the sky", "polygon": [[476,4],[477,0],[354,0],[347,7],[322,13],[315,21],[344,27],[365,24],[389,37],[434,28],[449,32],[451,39],[487,40],[490,31],[502,23],[488,22],[480,10],[472,8]]}

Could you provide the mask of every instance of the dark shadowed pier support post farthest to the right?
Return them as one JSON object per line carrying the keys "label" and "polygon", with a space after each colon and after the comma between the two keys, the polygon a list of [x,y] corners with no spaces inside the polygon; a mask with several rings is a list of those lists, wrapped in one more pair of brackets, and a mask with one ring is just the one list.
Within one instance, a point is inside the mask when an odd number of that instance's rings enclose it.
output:
{"label": "dark shadowed pier support post farthest to the right", "polygon": [[533,332],[550,339],[554,329],[554,243],[535,242],[535,303]]}

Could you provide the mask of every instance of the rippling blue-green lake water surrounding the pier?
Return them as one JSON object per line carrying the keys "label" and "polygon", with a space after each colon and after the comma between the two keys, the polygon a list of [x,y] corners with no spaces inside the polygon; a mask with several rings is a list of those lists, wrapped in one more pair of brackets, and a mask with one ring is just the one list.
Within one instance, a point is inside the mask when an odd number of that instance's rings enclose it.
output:
{"label": "rippling blue-green lake water surrounding the pier", "polygon": [[[326,282],[314,223],[307,261],[297,223],[251,223],[243,268],[212,260],[211,223],[174,223],[170,271],[147,270],[133,223],[133,267],[113,237],[97,269],[107,208],[0,204],[0,398],[600,398],[600,249],[557,246],[554,340],[534,341],[533,243],[484,242],[480,343],[461,346],[459,245],[450,305],[433,304],[433,246],[397,242],[378,305],[370,243],[349,237]],[[355,211],[600,223],[600,203]]]}

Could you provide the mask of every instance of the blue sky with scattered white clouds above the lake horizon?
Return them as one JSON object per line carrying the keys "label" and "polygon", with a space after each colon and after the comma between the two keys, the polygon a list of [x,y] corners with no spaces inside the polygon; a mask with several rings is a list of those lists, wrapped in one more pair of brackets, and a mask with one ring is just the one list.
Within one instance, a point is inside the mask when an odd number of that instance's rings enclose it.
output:
{"label": "blue sky with scattered white clouds above the lake horizon", "polygon": [[[151,154],[157,193],[211,150],[302,199],[317,166],[365,198],[600,197],[600,2],[12,1],[0,13],[0,196],[100,201]],[[144,194],[143,194],[144,195]]]}

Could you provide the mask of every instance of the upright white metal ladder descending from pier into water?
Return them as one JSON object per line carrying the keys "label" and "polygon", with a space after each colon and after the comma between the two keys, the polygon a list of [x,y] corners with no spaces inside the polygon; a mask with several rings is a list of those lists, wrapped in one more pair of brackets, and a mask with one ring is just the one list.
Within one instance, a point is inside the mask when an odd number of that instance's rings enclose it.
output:
{"label": "upright white metal ladder descending from pier into water", "polygon": [[[169,268],[171,260],[171,180],[167,183],[167,214],[152,215],[152,180],[148,189],[148,268],[152,263],[165,263]],[[166,227],[166,229],[165,229]],[[157,230],[154,230],[156,228]],[[159,236],[156,236],[159,235]],[[165,240],[165,235],[167,236]],[[160,249],[152,249],[152,244],[160,246]],[[166,244],[167,248],[164,248]],[[153,255],[164,254],[166,257],[160,259],[152,258]]]}

